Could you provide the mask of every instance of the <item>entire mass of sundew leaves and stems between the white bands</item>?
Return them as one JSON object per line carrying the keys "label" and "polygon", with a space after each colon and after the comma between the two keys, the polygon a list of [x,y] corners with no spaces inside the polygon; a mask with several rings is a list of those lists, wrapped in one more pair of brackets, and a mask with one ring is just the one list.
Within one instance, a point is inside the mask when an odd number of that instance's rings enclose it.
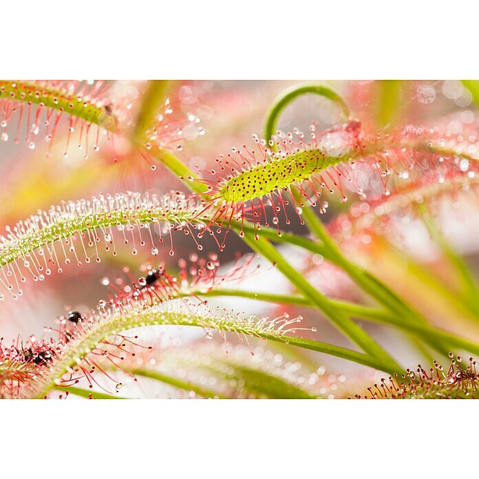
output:
{"label": "entire mass of sundew leaves and stems between the white bands", "polygon": [[478,81],[0,81],[1,398],[478,398]]}

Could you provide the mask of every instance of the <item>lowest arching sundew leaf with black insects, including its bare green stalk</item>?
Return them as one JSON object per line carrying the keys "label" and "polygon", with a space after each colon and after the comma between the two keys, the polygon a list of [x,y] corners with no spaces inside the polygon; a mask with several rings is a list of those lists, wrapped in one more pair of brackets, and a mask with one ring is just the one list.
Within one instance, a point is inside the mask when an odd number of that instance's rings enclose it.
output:
{"label": "lowest arching sundew leaf with black insects, including its bare green stalk", "polygon": [[[390,374],[397,370],[391,363],[368,354],[292,335],[301,330],[314,330],[302,327],[301,317],[282,315],[270,319],[212,309],[204,301],[169,299],[168,291],[155,283],[151,285],[140,279],[128,292],[118,292],[109,300],[100,301],[96,310],[90,313],[70,311],[59,317],[56,329],[45,328],[46,335],[41,339],[29,337],[25,345],[13,345],[9,354],[16,354],[19,363],[32,365],[34,375],[20,380],[10,378],[2,383],[4,395],[42,398],[52,387],[70,387],[81,378],[88,381],[90,387],[96,384],[107,394],[114,394],[111,391],[114,379],[103,365],[112,363],[122,369],[120,362],[135,356],[138,348],[150,350],[151,346],[138,344],[138,334],[131,330],[154,325],[200,327],[208,338],[211,330],[232,332],[240,338],[251,336],[332,354]],[[58,332],[58,338],[48,339],[47,334],[54,330]],[[224,334],[222,337],[225,339]],[[101,381],[107,379],[105,387],[97,381],[98,376]],[[121,384],[116,383],[114,390],[118,392],[120,389]]]}

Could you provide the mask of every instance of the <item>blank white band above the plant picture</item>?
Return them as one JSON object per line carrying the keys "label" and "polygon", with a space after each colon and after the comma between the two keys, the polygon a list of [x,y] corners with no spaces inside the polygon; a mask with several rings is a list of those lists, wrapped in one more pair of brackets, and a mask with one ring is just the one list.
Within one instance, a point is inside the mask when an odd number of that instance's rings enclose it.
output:
{"label": "blank white band above the plant picture", "polygon": [[474,1],[24,0],[10,10],[6,78],[478,76]]}

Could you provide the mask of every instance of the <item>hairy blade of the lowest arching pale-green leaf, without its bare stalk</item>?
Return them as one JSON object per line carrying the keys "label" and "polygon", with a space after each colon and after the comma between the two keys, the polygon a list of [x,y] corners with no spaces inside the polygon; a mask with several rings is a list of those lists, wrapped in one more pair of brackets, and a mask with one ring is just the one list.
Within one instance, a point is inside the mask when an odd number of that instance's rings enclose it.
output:
{"label": "hairy blade of the lowest arching pale-green leaf, without its bare stalk", "polygon": [[[140,292],[138,292],[140,291]],[[153,325],[196,326],[209,330],[234,332],[252,337],[286,341],[288,332],[299,330],[297,318],[279,317],[269,319],[254,315],[241,315],[225,310],[213,310],[205,304],[188,299],[162,299],[151,290],[136,290],[133,294],[117,295],[115,299],[100,301],[97,312],[80,315],[70,312],[74,325],[61,319],[58,341],[32,339],[34,362],[37,368],[31,381],[23,381],[21,397],[43,397],[54,386],[70,387],[78,383],[78,377],[87,377],[90,385],[97,383],[94,372],[105,372],[103,361],[118,365],[126,356],[134,355],[127,349],[135,344],[130,337],[120,332]],[[72,321],[71,319],[69,319]],[[29,346],[30,347],[30,346]],[[120,356],[115,351],[120,352]],[[115,359],[112,359],[115,358]],[[26,360],[25,360],[26,361]],[[120,366],[118,366],[120,367]],[[99,373],[99,374],[100,374]],[[109,376],[107,376],[111,379]],[[105,388],[104,388],[105,389]],[[105,392],[109,390],[105,389]]]}

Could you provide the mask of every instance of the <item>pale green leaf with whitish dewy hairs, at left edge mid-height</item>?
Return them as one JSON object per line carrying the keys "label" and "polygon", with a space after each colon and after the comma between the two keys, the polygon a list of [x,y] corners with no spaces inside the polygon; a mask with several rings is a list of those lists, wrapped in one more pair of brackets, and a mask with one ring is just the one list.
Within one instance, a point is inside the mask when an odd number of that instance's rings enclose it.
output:
{"label": "pale green leaf with whitish dewy hairs, at left edge mid-height", "polygon": [[[119,244],[130,248],[133,255],[148,245],[156,256],[157,242],[163,241],[162,235],[171,240],[175,229],[182,229],[193,240],[193,231],[211,231],[198,217],[199,210],[198,200],[179,192],[159,197],[129,192],[100,194],[38,211],[13,228],[7,226],[6,235],[0,235],[0,283],[18,299],[27,276],[41,281],[52,270],[61,273],[65,264],[99,263],[102,251],[116,255]],[[158,226],[159,240],[151,233],[153,226]],[[202,249],[198,242],[197,246]],[[0,292],[0,299],[3,297]]]}

